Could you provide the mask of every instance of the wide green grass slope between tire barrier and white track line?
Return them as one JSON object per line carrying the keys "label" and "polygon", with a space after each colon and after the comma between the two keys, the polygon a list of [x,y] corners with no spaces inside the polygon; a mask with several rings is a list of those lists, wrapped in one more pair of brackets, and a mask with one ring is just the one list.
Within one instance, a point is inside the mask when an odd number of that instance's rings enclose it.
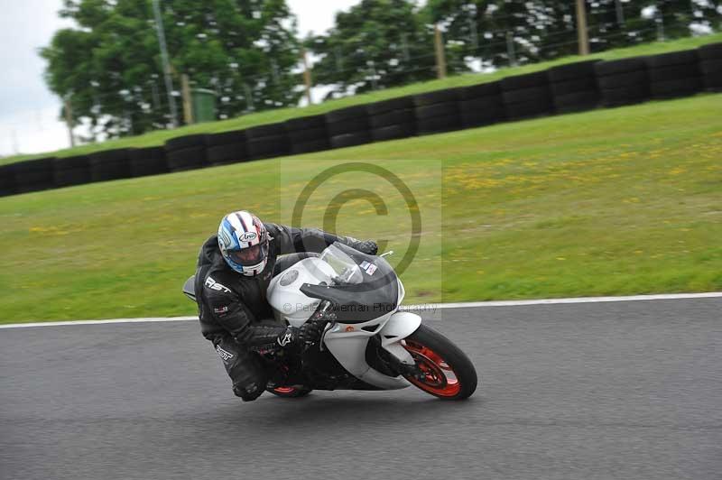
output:
{"label": "wide green grass slope between tire barrier and white track line", "polygon": [[[224,213],[285,221],[319,168],[369,159],[424,215],[407,302],[720,290],[720,111],[700,95],[0,198],[0,321],[192,314],[180,285]],[[338,231],[403,252],[402,201],[362,174],[314,194],[303,224],[349,188],[389,215],[352,200]]]}

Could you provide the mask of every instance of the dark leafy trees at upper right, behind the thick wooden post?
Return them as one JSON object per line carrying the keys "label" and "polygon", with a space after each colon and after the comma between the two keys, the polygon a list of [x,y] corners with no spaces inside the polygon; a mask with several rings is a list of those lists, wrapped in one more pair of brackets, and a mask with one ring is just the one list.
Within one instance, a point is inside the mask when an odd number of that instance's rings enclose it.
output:
{"label": "dark leafy trees at upper right, behind the thick wooden post", "polygon": [[[656,39],[653,18],[645,7],[656,6],[668,37],[690,35],[690,23],[713,25],[722,8],[718,0],[626,0],[622,15],[616,0],[587,1],[590,48],[602,51]],[[574,0],[429,0],[427,22],[445,26],[456,58],[482,58],[508,65],[507,35],[517,61],[553,59],[578,51]]]}

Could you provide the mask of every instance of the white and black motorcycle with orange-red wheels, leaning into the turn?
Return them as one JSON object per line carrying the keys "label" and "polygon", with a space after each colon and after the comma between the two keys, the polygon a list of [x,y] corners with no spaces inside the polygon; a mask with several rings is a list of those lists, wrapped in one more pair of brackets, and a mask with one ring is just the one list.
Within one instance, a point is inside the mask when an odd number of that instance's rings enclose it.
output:
{"label": "white and black motorcycle with orange-red wheels, leaning into the turn", "polygon": [[[301,355],[265,355],[276,375],[266,387],[281,397],[312,390],[397,390],[414,385],[444,400],[477,389],[474,365],[447,337],[402,311],[403,283],[383,255],[329,245],[278,272],[267,300],[275,319],[301,327],[320,322],[319,342]],[[183,292],[195,300],[193,277]]]}

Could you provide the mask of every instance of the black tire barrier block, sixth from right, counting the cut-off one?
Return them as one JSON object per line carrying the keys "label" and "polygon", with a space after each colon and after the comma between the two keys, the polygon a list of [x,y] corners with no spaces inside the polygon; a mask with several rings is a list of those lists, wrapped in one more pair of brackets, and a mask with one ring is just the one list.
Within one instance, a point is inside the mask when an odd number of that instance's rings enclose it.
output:
{"label": "black tire barrier block, sixth from right, counting the cut-off one", "polygon": [[458,89],[461,126],[491,125],[506,119],[502,84],[499,81]]}

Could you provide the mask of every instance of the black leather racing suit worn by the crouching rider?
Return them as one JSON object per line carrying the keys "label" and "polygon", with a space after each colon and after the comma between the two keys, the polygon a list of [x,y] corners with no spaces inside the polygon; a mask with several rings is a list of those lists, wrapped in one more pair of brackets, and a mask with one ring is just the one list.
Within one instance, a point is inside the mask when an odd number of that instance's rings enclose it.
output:
{"label": "black leather racing suit worn by the crouching rider", "polygon": [[[268,374],[255,348],[277,346],[276,338],[286,326],[273,320],[266,290],[273,275],[297,262],[309,252],[320,253],[341,242],[359,248],[365,245],[353,237],[337,236],[317,228],[295,228],[264,223],[270,235],[268,263],[264,271],[249,277],[231,269],[213,235],[200,249],[196,271],[196,300],[203,337],[213,343],[233,382],[233,391],[244,401],[264,392]],[[289,254],[278,258],[279,255]]]}

